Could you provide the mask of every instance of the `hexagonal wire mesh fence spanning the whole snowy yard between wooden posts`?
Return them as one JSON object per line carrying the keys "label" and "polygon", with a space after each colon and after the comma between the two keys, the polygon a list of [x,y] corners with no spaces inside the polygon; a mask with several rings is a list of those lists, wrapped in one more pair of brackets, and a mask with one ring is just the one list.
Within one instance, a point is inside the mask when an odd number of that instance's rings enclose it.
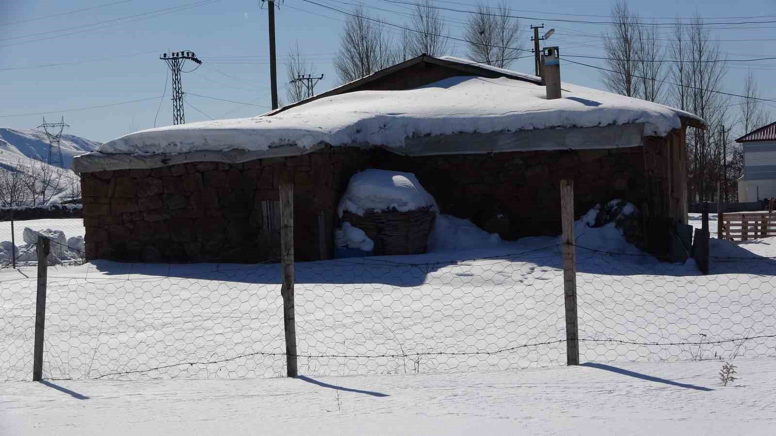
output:
{"label": "hexagonal wire mesh fence spanning the whole snowy yard between wooden posts", "polygon": [[[296,264],[301,374],[566,363],[559,245],[466,260],[395,259]],[[776,355],[776,259],[711,261],[712,274],[700,275],[692,260],[667,264],[577,246],[580,360]],[[0,275],[3,379],[32,372],[34,271]],[[48,271],[43,378],[286,373],[279,264],[98,261]]]}

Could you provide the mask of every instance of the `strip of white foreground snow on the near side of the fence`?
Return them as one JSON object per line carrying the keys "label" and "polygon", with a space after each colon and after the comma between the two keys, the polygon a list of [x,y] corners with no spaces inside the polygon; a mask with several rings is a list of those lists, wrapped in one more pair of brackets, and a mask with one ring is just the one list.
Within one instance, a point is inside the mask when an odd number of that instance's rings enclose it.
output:
{"label": "strip of white foreground snow on the near side of the fence", "polygon": [[0,382],[0,434],[770,435],[776,359],[456,374]]}

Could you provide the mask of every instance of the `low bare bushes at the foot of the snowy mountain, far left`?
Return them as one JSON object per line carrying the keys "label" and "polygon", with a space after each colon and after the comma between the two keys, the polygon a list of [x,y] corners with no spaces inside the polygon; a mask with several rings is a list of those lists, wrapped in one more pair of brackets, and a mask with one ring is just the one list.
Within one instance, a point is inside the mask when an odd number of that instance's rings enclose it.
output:
{"label": "low bare bushes at the foot of the snowy mountain, far left", "polygon": [[44,162],[0,167],[0,207],[42,206],[51,199],[81,199],[81,179]]}

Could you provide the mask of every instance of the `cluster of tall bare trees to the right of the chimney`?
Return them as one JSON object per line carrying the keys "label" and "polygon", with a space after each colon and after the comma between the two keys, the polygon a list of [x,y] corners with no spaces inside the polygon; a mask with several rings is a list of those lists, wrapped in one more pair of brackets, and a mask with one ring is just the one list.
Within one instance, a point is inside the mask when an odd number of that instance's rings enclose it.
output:
{"label": "cluster of tall bare trees to the right of the chimney", "polygon": [[721,93],[728,60],[701,16],[686,22],[677,18],[667,46],[661,45],[657,26],[641,24],[639,13],[624,0],[615,2],[611,16],[615,24],[605,35],[605,85],[705,119],[708,130],[688,131],[689,198],[715,201],[718,186],[726,182],[728,200],[737,201],[743,147],[731,133],[740,136],[768,121],[752,71],[743,81],[742,97]]}

